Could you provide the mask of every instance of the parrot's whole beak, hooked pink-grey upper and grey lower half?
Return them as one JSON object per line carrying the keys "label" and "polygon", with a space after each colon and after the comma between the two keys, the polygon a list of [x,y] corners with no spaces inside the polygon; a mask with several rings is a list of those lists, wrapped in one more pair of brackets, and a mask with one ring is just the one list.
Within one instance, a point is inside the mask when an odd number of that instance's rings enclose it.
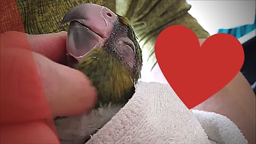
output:
{"label": "parrot's whole beak, hooked pink-grey upper and grey lower half", "polygon": [[67,37],[69,62],[74,58],[81,61],[91,49],[103,46],[116,20],[117,15],[101,5],[83,4],[70,9],[61,22],[70,21]]}

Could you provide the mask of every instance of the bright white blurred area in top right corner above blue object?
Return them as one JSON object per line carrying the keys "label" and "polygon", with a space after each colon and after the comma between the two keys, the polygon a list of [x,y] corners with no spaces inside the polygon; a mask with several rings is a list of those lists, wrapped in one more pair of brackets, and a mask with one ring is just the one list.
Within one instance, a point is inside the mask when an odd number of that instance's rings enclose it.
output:
{"label": "bright white blurred area in top right corner above blue object", "polygon": [[[188,11],[200,25],[210,33],[217,34],[219,29],[253,25],[255,21],[255,1],[187,1]],[[254,25],[255,30],[255,25]],[[254,33],[255,36],[255,33]]]}

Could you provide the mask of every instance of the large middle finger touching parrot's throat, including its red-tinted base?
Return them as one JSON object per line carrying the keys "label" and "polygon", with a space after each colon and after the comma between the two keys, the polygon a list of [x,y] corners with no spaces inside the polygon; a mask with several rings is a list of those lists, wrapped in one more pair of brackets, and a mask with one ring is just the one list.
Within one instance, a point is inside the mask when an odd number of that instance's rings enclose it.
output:
{"label": "large middle finger touching parrot's throat, including its red-tinted base", "polygon": [[94,106],[95,89],[80,71],[14,47],[1,47],[0,58],[1,123],[77,115]]}

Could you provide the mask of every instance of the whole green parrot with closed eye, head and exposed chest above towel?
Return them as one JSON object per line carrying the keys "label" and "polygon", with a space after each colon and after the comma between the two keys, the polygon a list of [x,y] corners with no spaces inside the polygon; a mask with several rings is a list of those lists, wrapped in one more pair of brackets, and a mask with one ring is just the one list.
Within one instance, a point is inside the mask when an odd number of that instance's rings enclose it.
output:
{"label": "whole green parrot with closed eye, head and exposed chest above towel", "polygon": [[141,75],[142,51],[131,22],[105,6],[70,9],[68,66],[82,71],[97,89],[95,107],[79,116],[54,119],[61,143],[85,143],[132,98]]}

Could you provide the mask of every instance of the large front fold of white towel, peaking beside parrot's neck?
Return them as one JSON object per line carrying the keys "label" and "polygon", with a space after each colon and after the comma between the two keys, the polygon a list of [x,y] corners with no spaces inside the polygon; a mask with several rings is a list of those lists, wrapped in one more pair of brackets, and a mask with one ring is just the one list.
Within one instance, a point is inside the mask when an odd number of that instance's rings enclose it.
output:
{"label": "large front fold of white towel, peaking beside parrot's neck", "polygon": [[138,83],[133,97],[87,143],[210,143],[170,85]]}

